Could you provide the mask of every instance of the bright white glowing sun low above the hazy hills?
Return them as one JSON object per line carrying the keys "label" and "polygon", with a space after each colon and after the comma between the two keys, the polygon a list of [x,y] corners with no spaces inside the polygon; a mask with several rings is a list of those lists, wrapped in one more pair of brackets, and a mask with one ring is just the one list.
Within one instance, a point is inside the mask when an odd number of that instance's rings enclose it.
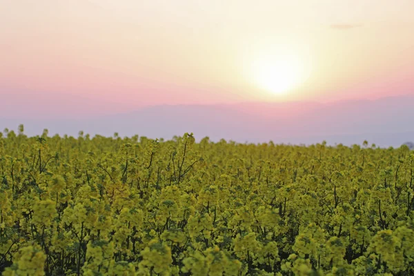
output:
{"label": "bright white glowing sun low above the hazy hills", "polygon": [[253,79],[263,90],[286,95],[299,84],[302,67],[295,56],[265,57],[253,63]]}

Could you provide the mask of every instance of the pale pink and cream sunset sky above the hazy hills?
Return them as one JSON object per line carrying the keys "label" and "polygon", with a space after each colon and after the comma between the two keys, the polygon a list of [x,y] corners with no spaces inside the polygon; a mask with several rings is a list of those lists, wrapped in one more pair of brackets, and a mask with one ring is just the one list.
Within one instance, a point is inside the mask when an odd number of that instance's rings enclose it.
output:
{"label": "pale pink and cream sunset sky above the hazy hills", "polygon": [[[414,94],[413,10],[412,0],[2,0],[0,106],[85,115]],[[298,78],[278,96],[253,64],[285,56]]]}

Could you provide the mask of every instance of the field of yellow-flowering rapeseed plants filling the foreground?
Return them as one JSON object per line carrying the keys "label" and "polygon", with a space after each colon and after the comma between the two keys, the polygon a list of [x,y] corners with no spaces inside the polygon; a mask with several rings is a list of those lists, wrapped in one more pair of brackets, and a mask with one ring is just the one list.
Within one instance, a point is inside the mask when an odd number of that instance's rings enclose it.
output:
{"label": "field of yellow-flowering rapeseed plants filling the foreground", "polygon": [[414,275],[407,146],[0,137],[3,275]]}

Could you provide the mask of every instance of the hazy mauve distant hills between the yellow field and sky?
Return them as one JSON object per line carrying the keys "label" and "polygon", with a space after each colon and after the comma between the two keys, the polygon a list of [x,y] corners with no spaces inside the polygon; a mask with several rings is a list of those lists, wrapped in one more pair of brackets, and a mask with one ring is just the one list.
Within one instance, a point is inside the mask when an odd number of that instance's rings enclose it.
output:
{"label": "hazy mauve distant hills between the yellow field and sky", "polygon": [[[43,110],[44,111],[44,110]],[[43,117],[44,118],[44,117]],[[143,135],[169,139],[194,132],[199,139],[239,142],[361,144],[367,139],[379,146],[400,146],[414,140],[414,97],[333,103],[235,103],[223,105],[151,106],[115,115],[54,119],[3,117],[0,127],[25,124],[28,135],[43,128],[50,133],[77,135]]]}

